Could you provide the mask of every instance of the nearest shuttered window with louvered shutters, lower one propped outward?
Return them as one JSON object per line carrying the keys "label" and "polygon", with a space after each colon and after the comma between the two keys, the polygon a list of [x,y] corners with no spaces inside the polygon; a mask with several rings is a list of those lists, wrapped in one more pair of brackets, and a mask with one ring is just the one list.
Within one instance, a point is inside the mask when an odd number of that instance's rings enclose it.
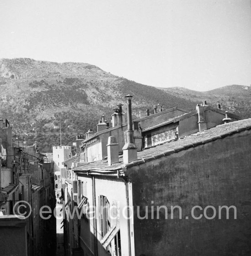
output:
{"label": "nearest shuttered window with louvered shutters, lower one propped outward", "polygon": [[102,195],[98,201],[100,242],[111,256],[121,256],[119,202],[109,202],[106,196]]}

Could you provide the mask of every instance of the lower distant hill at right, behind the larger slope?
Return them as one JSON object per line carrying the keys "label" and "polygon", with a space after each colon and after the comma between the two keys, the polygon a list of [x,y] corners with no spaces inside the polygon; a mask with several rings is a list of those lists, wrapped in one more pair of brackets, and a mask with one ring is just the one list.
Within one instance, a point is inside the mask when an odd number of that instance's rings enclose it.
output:
{"label": "lower distant hill at right, behind the larger slope", "polygon": [[159,88],[178,98],[202,102],[204,100],[216,107],[220,103],[227,109],[243,118],[251,117],[251,87],[243,85],[229,85],[208,92],[196,92],[183,87]]}

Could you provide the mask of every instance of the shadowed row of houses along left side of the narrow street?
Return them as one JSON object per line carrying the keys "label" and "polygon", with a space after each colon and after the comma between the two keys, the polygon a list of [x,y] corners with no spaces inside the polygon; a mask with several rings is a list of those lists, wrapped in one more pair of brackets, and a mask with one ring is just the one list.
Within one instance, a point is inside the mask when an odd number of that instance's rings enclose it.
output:
{"label": "shadowed row of houses along left side of the narrow street", "polygon": [[53,162],[45,159],[36,145],[15,142],[0,119],[1,255],[55,255],[55,218],[40,217],[41,207],[55,207]]}

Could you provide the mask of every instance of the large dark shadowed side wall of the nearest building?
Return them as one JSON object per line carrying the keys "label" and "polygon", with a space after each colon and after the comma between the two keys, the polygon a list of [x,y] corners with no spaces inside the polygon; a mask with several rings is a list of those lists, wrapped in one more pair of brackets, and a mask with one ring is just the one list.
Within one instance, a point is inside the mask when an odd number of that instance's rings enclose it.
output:
{"label": "large dark shadowed side wall of the nearest building", "polygon": [[[140,216],[154,206],[154,219],[139,219],[134,212],[135,255],[211,256],[248,255],[251,251],[251,131],[243,131],[128,170],[133,204]],[[214,206],[216,217],[191,217],[193,206]],[[157,206],[166,206],[157,219]],[[171,206],[182,207],[174,210]],[[235,206],[219,219],[219,206]],[[136,208],[135,208],[136,209]],[[199,216],[203,211],[195,211]],[[208,216],[213,211],[208,210]],[[188,219],[185,217],[188,216]]]}

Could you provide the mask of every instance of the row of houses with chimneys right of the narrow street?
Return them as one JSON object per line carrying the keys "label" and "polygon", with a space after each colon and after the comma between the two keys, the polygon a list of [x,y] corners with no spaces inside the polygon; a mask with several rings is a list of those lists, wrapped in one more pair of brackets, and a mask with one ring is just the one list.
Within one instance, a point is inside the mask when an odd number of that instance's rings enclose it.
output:
{"label": "row of houses with chimneys right of the narrow street", "polygon": [[65,255],[248,255],[251,119],[204,102],[132,120],[126,101],[64,161]]}

